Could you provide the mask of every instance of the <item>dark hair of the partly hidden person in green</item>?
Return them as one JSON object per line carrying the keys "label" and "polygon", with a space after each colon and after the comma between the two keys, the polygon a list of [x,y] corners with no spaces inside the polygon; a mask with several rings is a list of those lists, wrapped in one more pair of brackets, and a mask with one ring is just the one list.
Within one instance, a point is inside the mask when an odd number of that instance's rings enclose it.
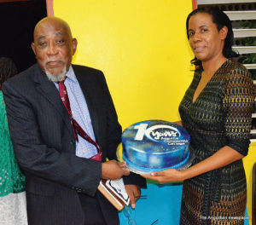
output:
{"label": "dark hair of the partly hidden person in green", "polygon": [[14,61],[6,57],[0,57],[0,87],[3,82],[17,74]]}

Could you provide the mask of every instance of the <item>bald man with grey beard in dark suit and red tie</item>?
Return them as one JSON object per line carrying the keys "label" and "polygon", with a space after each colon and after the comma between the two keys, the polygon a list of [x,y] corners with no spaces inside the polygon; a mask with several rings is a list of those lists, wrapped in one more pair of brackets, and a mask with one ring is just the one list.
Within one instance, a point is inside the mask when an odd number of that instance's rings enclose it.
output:
{"label": "bald man with grey beard in dark suit and red tie", "polygon": [[32,43],[38,63],[3,84],[29,224],[119,224],[101,178],[124,176],[132,206],[144,185],[115,160],[121,127],[108,86],[101,71],[71,65],[76,47],[64,20],[44,18]]}

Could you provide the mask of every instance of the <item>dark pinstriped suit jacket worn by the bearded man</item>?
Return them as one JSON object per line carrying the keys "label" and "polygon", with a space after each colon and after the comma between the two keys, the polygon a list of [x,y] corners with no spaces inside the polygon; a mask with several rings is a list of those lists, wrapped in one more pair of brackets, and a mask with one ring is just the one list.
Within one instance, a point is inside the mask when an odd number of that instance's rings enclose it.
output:
{"label": "dark pinstriped suit jacket worn by the bearded man", "polygon": [[[102,161],[116,159],[121,127],[103,73],[85,66],[73,65],[73,70],[88,104]],[[16,158],[26,174],[29,224],[84,224],[81,193],[99,199],[106,222],[118,224],[117,211],[97,191],[102,164],[75,155],[66,108],[38,64],[4,83],[3,94]],[[125,182],[143,186],[137,176]]]}

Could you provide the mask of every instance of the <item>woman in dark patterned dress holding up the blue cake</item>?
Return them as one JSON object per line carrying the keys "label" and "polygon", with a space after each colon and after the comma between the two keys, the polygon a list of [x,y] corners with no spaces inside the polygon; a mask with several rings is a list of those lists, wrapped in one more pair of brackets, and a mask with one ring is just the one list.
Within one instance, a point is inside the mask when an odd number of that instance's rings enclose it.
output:
{"label": "woman in dark patterned dress holding up the blue cake", "polygon": [[189,148],[186,170],[154,172],[148,179],[183,182],[180,224],[243,224],[247,155],[254,102],[253,80],[236,56],[230,20],[218,9],[195,9],[187,18],[195,76],[179,107]]}

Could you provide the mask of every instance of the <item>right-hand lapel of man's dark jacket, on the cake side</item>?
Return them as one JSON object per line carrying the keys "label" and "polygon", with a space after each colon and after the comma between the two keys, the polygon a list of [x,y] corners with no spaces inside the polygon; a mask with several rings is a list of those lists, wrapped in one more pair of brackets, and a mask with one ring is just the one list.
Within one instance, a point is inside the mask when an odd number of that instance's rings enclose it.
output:
{"label": "right-hand lapel of man's dark jacket, on the cake side", "polygon": [[92,91],[92,86],[90,84],[91,83],[90,76],[86,76],[86,72],[84,72],[84,70],[82,71],[82,69],[79,66],[73,65],[73,71],[79,81],[80,87],[84,94],[85,101],[87,103],[96,142],[101,146],[100,136],[99,136],[99,131],[100,131],[100,127],[99,127],[100,114],[99,113],[100,112],[97,110],[97,107],[95,105],[94,100],[96,99],[96,96],[95,96],[95,93]]}

